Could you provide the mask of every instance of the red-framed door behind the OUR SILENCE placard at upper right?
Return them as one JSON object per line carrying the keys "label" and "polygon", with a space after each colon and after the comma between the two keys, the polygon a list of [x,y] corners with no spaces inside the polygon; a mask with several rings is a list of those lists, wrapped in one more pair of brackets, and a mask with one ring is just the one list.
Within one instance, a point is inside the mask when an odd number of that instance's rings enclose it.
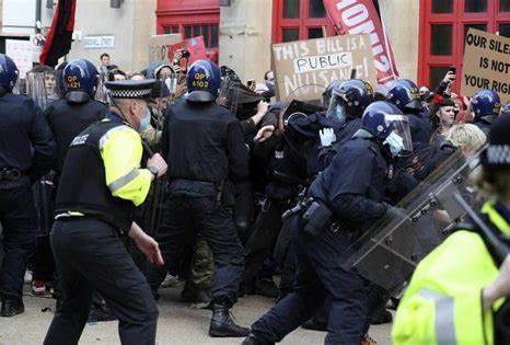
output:
{"label": "red-framed door behind the OUR SILENCE placard at upper right", "polygon": [[[510,37],[510,0],[421,0],[418,80],[436,88],[450,67],[461,79],[470,27]],[[460,82],[453,85],[459,92]]]}

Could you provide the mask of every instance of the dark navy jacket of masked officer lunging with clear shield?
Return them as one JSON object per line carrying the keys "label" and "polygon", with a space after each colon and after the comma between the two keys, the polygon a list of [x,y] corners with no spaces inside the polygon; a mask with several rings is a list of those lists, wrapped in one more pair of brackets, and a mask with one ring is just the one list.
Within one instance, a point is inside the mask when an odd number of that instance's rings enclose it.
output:
{"label": "dark navy jacket of masked officer lunging with clear shield", "polygon": [[309,195],[326,204],[347,229],[359,230],[386,211],[389,179],[380,147],[370,139],[353,138],[314,180]]}

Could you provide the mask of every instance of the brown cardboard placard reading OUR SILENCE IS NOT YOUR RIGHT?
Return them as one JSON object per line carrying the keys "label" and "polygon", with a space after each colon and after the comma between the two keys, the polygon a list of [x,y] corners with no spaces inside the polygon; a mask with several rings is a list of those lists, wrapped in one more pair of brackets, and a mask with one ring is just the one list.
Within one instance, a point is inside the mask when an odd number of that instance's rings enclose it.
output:
{"label": "brown cardboard placard reading OUR SILENCE IS NOT YOUR RIGHT", "polygon": [[494,90],[510,101],[510,38],[470,28],[465,41],[461,94]]}

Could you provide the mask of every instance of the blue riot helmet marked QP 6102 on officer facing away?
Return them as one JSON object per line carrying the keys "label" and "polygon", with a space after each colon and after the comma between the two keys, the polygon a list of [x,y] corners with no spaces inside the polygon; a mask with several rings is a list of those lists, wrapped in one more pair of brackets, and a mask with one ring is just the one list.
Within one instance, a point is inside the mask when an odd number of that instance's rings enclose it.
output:
{"label": "blue riot helmet marked QP 6102 on officer facing away", "polygon": [[187,73],[187,101],[212,102],[218,96],[221,85],[221,72],[218,66],[209,60],[197,60]]}

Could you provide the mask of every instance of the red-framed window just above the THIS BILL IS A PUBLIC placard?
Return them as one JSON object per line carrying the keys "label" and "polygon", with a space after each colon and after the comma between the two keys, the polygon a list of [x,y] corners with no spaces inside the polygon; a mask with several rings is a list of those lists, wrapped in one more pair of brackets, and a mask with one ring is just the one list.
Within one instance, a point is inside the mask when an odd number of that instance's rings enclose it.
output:
{"label": "red-framed window just above the THIS BILL IS A PUBLIC placard", "polygon": [[292,42],[334,35],[323,0],[273,1],[273,42]]}

